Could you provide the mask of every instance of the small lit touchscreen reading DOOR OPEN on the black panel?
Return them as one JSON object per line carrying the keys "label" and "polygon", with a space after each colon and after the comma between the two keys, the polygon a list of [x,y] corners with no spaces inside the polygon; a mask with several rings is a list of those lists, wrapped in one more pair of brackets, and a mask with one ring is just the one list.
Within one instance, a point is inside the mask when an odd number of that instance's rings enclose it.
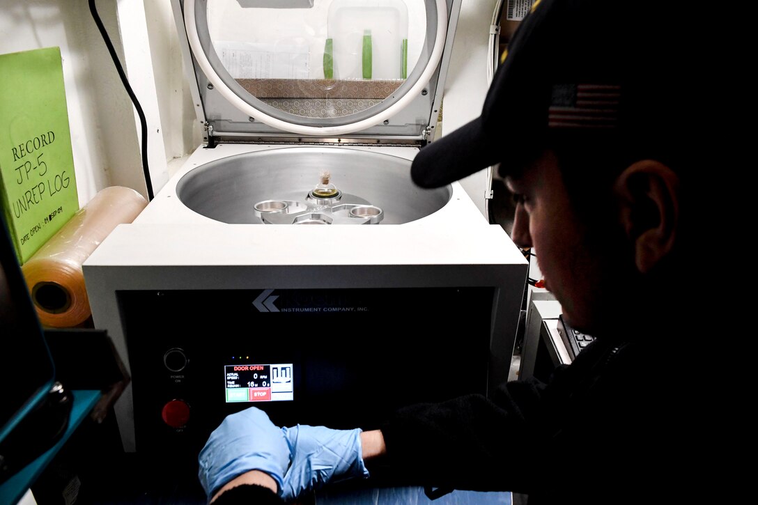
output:
{"label": "small lit touchscreen reading DOOR OPEN on the black panel", "polygon": [[225,365],[227,403],[293,400],[292,363]]}

